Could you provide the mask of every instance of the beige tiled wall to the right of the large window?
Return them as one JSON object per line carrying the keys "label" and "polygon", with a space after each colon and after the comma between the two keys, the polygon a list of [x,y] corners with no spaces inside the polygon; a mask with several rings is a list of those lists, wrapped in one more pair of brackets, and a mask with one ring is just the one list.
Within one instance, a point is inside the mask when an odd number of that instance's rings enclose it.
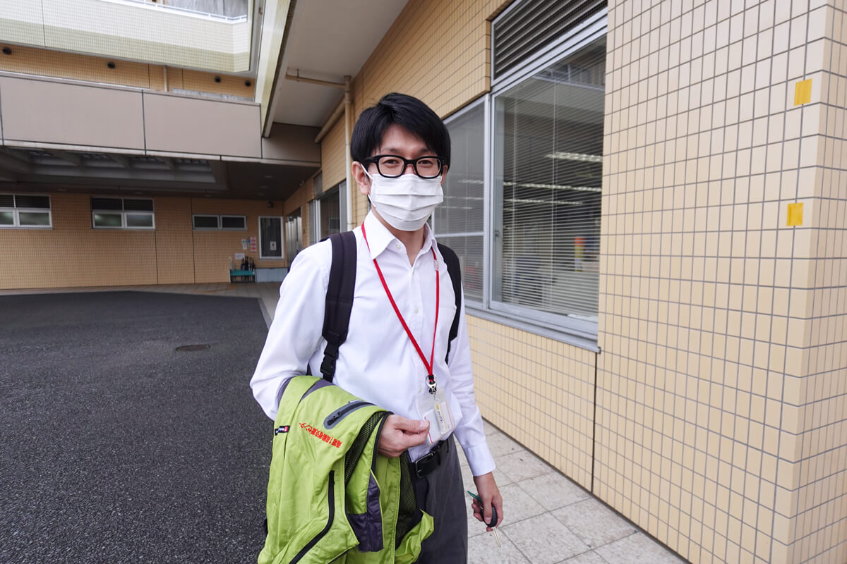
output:
{"label": "beige tiled wall to the right of the large window", "polygon": [[847,560],[841,10],[610,3],[595,493],[692,562]]}

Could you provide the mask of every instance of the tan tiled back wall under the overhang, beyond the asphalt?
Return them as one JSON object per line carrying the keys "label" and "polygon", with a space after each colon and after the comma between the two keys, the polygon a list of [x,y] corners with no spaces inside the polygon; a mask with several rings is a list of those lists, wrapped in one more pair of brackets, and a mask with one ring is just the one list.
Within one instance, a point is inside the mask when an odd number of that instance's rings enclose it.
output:
{"label": "tan tiled back wall under the overhang, beyond the asphalt", "polygon": [[[258,216],[281,216],[282,202],[154,198],[155,230],[111,230],[91,227],[90,194],[49,195],[53,229],[0,228],[0,289],[229,282],[237,252],[285,266],[241,250],[258,237]],[[194,213],[246,216],[247,230],[195,232]]]}

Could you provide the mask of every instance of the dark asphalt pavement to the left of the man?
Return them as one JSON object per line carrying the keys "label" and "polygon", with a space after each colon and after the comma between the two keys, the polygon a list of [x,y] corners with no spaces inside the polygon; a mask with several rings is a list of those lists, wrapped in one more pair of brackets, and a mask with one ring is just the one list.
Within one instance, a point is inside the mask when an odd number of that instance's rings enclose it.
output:
{"label": "dark asphalt pavement to the left of the man", "polygon": [[0,562],[255,562],[266,333],[255,298],[0,296]]}

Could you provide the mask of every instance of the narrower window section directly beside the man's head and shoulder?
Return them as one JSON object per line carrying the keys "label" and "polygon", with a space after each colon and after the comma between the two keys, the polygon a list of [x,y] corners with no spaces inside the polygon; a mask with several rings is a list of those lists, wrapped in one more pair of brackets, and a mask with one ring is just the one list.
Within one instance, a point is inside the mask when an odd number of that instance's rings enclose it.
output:
{"label": "narrower window section directly beside the man's head and shoulder", "polygon": [[433,231],[440,243],[456,251],[462,266],[465,298],[483,298],[485,105],[478,103],[447,120],[450,168],[444,202],[435,208]]}

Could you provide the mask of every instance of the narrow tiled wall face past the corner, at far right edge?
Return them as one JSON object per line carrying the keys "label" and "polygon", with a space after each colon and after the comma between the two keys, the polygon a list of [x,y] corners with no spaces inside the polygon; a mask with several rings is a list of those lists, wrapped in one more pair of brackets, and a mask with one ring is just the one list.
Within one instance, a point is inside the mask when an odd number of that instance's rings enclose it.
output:
{"label": "narrow tiled wall face past the corner, at far right edge", "polygon": [[[803,227],[794,227],[794,248],[808,249],[807,277],[798,290],[804,309],[804,376],[796,406],[799,435],[794,449],[794,512],[784,520],[794,561],[847,561],[847,13],[843,2],[811,10],[804,79],[811,102],[804,107],[803,138],[817,145],[814,183],[800,183]],[[796,260],[796,259],[795,259]],[[792,295],[792,299],[794,296]],[[791,538],[789,538],[791,539]]]}

